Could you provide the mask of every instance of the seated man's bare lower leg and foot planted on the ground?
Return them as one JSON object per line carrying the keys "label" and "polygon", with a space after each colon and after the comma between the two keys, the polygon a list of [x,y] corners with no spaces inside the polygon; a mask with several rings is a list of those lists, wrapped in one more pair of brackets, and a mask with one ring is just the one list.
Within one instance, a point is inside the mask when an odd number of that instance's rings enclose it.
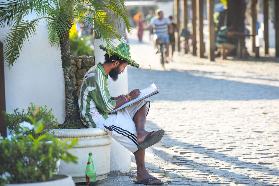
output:
{"label": "seated man's bare lower leg and foot planted on the ground", "polygon": [[[141,180],[146,179],[146,178],[153,178],[153,176],[151,176],[147,172],[145,164],[144,164],[145,149],[138,150],[134,155],[135,155],[137,169],[138,169],[137,181],[141,181]],[[147,183],[158,183],[158,182],[161,182],[161,180],[152,180],[152,181],[149,181]]]}

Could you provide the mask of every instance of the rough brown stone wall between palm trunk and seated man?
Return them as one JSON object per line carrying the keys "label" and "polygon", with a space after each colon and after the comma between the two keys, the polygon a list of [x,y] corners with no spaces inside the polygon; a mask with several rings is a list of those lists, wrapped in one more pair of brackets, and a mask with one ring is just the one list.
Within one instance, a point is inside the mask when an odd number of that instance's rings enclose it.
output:
{"label": "rough brown stone wall between palm trunk and seated man", "polygon": [[74,81],[76,85],[76,95],[79,97],[79,89],[83,79],[84,74],[89,68],[95,65],[93,56],[71,56],[71,64],[73,67]]}

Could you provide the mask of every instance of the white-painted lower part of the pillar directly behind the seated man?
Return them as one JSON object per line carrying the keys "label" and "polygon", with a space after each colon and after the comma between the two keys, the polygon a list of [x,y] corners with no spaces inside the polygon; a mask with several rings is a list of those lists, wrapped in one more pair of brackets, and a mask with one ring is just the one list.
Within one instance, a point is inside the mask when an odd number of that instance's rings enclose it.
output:
{"label": "white-painted lower part of the pillar directly behind the seated man", "polygon": [[[115,39],[116,45],[118,45],[120,42]],[[106,46],[104,41],[101,41],[100,39],[94,39],[94,55],[95,55],[95,64],[101,62],[103,63],[105,61],[105,51],[100,49],[99,45]],[[116,46],[115,45],[115,46]],[[117,81],[112,81],[112,79],[109,76],[109,79],[107,81],[110,95],[115,97],[119,96],[121,94],[127,94],[128,93],[128,73],[127,68],[125,68],[124,73],[121,73],[118,76]],[[130,151],[127,150],[125,147],[120,145],[117,141],[113,141],[113,143],[110,145],[110,170],[112,171],[120,171],[120,172],[129,172],[131,169],[131,155]]]}

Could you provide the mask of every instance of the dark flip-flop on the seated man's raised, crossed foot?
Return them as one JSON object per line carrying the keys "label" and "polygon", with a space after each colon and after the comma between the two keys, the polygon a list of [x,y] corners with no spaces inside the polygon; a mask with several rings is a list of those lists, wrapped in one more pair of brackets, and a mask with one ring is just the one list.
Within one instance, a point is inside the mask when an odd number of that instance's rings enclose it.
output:
{"label": "dark flip-flop on the seated man's raised, crossed foot", "polygon": [[147,136],[144,138],[144,141],[138,144],[138,149],[143,150],[154,145],[155,143],[158,143],[165,133],[165,131],[161,129],[151,136],[153,132],[154,131],[148,133]]}

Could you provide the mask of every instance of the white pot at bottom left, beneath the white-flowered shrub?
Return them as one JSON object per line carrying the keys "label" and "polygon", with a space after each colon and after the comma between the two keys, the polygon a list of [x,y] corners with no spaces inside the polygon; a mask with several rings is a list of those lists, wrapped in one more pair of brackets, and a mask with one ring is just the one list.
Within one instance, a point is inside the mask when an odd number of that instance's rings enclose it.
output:
{"label": "white pot at bottom left, beneath the white-flowered shrub", "polygon": [[53,175],[53,180],[47,182],[36,183],[18,183],[18,184],[5,184],[4,186],[75,186],[72,177],[70,175]]}

